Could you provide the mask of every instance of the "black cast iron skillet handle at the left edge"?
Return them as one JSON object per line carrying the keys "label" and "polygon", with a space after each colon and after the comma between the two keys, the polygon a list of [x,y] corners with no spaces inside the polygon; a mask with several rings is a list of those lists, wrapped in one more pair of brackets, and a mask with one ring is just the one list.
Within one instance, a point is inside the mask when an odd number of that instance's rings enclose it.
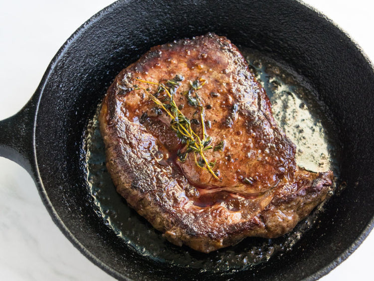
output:
{"label": "black cast iron skillet handle at the left edge", "polygon": [[18,113],[0,121],[0,156],[18,163],[29,173],[34,159],[33,132],[38,96],[35,93]]}

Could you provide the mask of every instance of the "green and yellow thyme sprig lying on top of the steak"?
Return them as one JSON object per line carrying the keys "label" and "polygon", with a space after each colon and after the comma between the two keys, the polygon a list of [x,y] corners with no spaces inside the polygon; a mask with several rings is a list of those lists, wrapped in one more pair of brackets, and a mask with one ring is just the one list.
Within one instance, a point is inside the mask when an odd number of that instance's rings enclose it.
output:
{"label": "green and yellow thyme sprig lying on top of the steak", "polygon": [[[142,89],[150,99],[165,111],[171,118],[170,126],[177,133],[178,138],[181,139],[182,143],[185,144],[185,152],[178,150],[177,156],[181,162],[185,162],[187,154],[193,152],[193,157],[196,165],[206,171],[208,171],[215,179],[220,180],[217,173],[212,170],[215,162],[208,161],[204,155],[204,152],[213,147],[210,144],[212,138],[207,135],[204,121],[204,107],[201,103],[200,97],[197,94],[197,90],[200,89],[207,81],[203,78],[196,79],[193,82],[189,82],[190,88],[186,92],[182,93],[187,97],[187,103],[190,106],[196,107],[200,112],[200,124],[202,129],[202,138],[200,138],[191,127],[191,120],[189,120],[180,110],[181,106],[178,106],[175,102],[175,94],[178,87],[181,85],[181,81],[184,80],[182,75],[176,75],[174,79],[167,80],[164,83],[150,82],[135,78],[138,82],[157,85],[158,89],[155,94],[150,92],[149,88],[142,87],[140,85],[133,85],[134,90]],[[160,93],[165,92],[166,95],[160,97]],[[182,108],[181,108],[182,109]],[[197,119],[195,119],[195,124]]]}

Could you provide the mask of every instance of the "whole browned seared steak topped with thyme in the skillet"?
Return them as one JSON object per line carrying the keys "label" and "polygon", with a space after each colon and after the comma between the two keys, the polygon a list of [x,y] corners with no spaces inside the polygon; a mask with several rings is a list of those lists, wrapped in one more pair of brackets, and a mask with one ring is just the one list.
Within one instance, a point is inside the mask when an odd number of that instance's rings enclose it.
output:
{"label": "whole browned seared steak topped with thyme in the skillet", "polygon": [[[122,70],[100,128],[117,191],[170,242],[205,253],[291,231],[332,185],[331,171],[297,167],[265,90],[215,34],[153,47]],[[185,135],[206,141],[203,155]]]}

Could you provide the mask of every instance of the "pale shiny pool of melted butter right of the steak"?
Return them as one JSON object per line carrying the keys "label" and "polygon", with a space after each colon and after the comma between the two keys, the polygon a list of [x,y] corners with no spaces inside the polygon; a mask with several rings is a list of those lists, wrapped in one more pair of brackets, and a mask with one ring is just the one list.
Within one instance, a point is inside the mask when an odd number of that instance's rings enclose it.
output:
{"label": "pale shiny pool of melted butter right of the steak", "polygon": [[312,172],[336,170],[336,144],[327,132],[333,128],[313,88],[292,70],[256,52],[246,52],[246,59],[269,96],[275,121],[296,145],[298,166]]}

